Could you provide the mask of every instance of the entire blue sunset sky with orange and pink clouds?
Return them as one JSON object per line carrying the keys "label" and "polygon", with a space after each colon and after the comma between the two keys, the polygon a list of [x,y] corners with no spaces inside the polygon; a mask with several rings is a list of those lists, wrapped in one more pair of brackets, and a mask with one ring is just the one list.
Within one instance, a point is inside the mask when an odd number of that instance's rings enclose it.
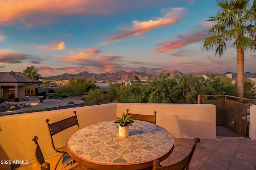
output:
{"label": "entire blue sunset sky with orange and pink clouds", "polygon": [[[42,76],[160,70],[236,73],[236,49],[202,49],[216,0],[1,0],[0,71]],[[244,71],[256,72],[256,53]]]}

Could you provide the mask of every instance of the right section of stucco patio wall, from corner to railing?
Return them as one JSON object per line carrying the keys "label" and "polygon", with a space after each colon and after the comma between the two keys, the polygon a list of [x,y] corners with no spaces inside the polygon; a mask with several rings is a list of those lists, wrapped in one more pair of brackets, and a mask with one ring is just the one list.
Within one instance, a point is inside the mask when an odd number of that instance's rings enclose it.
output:
{"label": "right section of stucco patio wall, from corner to railing", "polygon": [[156,124],[170,131],[174,138],[216,139],[215,105],[118,103],[118,117],[126,109],[129,113],[146,115],[154,115],[156,111]]}

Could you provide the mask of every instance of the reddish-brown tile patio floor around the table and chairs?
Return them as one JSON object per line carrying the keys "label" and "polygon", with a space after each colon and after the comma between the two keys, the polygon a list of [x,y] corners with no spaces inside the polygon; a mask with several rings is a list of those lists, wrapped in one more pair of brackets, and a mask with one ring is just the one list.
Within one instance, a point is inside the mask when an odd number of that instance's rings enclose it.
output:
{"label": "reddish-brown tile patio floor around the table and chairs", "polygon": [[[161,165],[182,159],[190,151],[194,139],[174,139],[172,154]],[[68,167],[67,167],[68,169]],[[76,165],[70,170],[86,169]],[[256,140],[201,139],[190,162],[189,170],[256,170]]]}

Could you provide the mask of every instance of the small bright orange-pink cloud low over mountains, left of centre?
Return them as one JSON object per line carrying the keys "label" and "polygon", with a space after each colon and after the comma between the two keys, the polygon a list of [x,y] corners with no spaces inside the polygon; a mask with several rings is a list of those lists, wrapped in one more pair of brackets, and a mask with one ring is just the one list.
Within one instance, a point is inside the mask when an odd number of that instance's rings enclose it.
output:
{"label": "small bright orange-pink cloud low over mountains, left of centre", "polygon": [[94,49],[94,48],[89,48],[86,49],[85,52],[81,51],[78,55],[75,56],[68,56],[68,57],[63,57],[62,61],[64,62],[80,62],[83,59],[86,59],[87,57],[90,57],[92,55],[96,55],[100,53],[99,49]]}

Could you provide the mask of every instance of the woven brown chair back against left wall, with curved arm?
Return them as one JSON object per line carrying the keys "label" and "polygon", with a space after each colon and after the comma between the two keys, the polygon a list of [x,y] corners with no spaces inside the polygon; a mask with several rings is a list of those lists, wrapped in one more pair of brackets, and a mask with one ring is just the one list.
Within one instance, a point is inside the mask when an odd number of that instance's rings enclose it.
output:
{"label": "woven brown chair back against left wall, with curved arm", "polygon": [[47,123],[48,131],[51,137],[52,147],[54,150],[59,152],[59,150],[56,149],[54,146],[53,138],[52,136],[56,135],[57,133],[64,131],[65,129],[68,129],[69,127],[77,125],[77,128],[79,129],[78,119],[76,117],[76,111],[73,111],[74,116],[68,117],[66,119],[54,122],[49,124],[49,119],[45,119],[45,122]]}

